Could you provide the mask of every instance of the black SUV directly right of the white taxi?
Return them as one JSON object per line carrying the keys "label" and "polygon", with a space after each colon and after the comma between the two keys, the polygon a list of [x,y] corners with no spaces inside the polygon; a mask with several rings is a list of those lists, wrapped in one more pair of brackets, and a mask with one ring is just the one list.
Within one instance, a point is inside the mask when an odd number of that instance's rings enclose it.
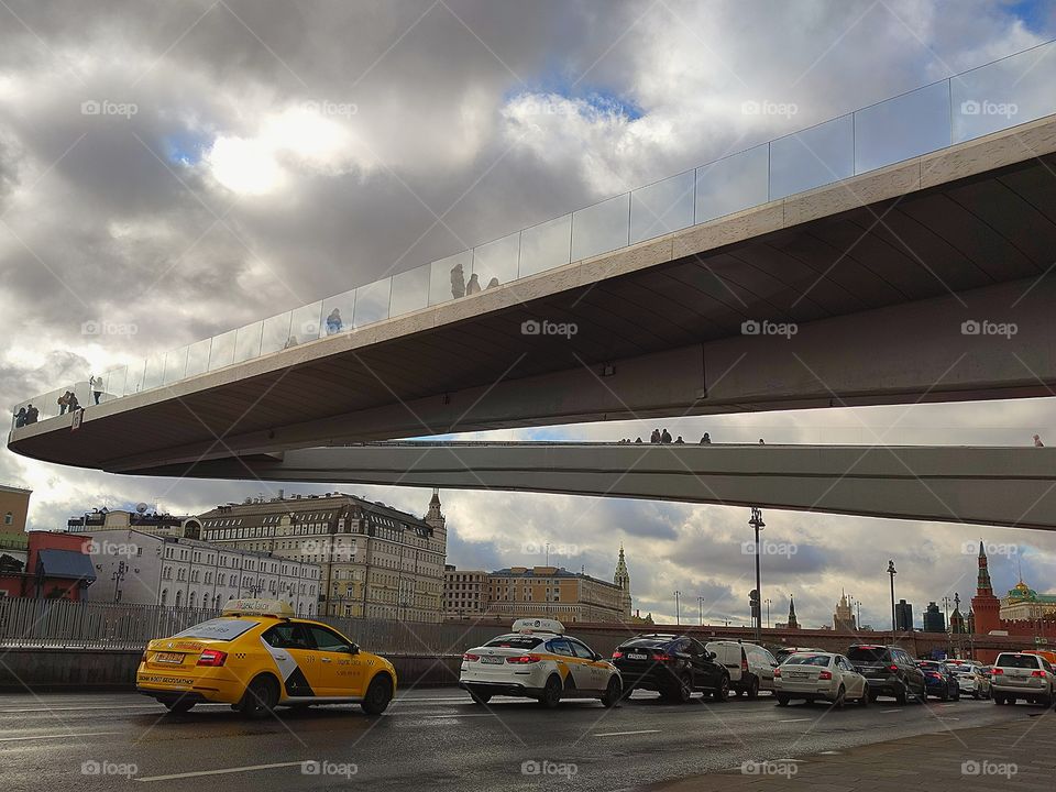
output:
{"label": "black SUV directly right of the white taxi", "polygon": [[729,695],[729,672],[689,636],[636,636],[617,647],[613,663],[624,678],[625,696],[636,688],[658,691],[678,703],[688,702],[693,691],[711,693],[715,701]]}

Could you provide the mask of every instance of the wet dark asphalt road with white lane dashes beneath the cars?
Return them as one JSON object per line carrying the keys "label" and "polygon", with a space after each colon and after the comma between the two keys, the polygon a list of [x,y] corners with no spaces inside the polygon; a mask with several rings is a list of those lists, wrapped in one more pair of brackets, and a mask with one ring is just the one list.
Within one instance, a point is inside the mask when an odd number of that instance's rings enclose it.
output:
{"label": "wet dark asphalt road with white lane dashes beneath the cars", "polygon": [[768,695],[679,706],[645,692],[614,710],[566,702],[547,712],[503,697],[482,707],[441,689],[405,692],[378,718],[331,706],[248,722],[219,705],[167,715],[131,693],[11,694],[0,695],[0,767],[6,792],[519,790],[565,784],[571,766],[576,788],[619,790],[1038,712],[970,700],[831,711],[778,707]]}

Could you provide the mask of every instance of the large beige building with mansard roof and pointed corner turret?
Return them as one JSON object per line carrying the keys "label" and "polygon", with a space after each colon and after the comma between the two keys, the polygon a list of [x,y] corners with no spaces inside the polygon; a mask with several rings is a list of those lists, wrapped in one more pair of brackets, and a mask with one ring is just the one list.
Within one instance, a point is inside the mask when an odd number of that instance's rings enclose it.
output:
{"label": "large beige building with mansard roof and pointed corner turret", "polygon": [[199,518],[206,541],[319,564],[322,615],[443,618],[448,539],[437,491],[424,518],[355,495],[282,491]]}

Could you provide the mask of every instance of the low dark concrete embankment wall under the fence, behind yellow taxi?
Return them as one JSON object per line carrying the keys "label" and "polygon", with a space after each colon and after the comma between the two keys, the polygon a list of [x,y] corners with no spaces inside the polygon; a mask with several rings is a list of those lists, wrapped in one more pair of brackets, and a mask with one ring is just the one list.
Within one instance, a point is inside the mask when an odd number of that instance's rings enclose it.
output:
{"label": "low dark concrete embankment wall under the fence, behind yellow taxi", "polygon": [[[0,692],[133,690],[142,654],[120,649],[0,649]],[[396,667],[403,689],[459,681],[461,654],[385,657]]]}

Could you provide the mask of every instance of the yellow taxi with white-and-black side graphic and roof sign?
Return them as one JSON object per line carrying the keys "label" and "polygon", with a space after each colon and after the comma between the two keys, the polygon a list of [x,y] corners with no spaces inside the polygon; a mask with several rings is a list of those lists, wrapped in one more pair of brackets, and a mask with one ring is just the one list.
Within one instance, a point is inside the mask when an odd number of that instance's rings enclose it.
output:
{"label": "yellow taxi with white-and-black side graphic and roof sign", "polygon": [[396,669],[332,627],[294,618],[286,603],[231,600],[219,618],[147,644],[135,688],[174,713],[211,702],[262,717],[277,706],[355,702],[380,715]]}

